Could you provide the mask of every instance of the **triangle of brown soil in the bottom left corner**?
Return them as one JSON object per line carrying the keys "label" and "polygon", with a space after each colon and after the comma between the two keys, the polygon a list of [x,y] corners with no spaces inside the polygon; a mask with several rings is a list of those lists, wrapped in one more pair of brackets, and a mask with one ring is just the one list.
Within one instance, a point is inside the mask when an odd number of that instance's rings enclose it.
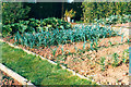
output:
{"label": "triangle of brown soil in the bottom left corner", "polygon": [[17,87],[22,87],[22,85],[13,79],[12,77],[10,77],[8,74],[5,74],[4,72],[0,71],[0,77],[2,78],[0,80],[1,86],[17,86]]}

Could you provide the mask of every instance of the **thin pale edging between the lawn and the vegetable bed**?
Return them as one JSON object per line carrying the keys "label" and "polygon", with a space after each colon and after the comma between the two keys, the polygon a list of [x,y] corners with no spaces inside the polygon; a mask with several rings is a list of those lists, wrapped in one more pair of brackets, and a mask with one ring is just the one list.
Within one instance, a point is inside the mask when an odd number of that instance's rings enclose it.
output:
{"label": "thin pale edging between the lawn and the vegetable bed", "polygon": [[[44,57],[41,57],[41,55],[39,55],[39,54],[36,54],[36,53],[34,53],[34,52],[31,52],[31,51],[28,51],[28,50],[26,50],[26,49],[23,49],[23,48],[21,48],[21,47],[14,46],[14,45],[12,45],[12,44],[10,44],[10,42],[8,42],[8,41],[4,41],[3,39],[0,39],[0,41],[1,41],[1,42],[5,42],[5,44],[8,44],[9,46],[11,46],[11,47],[13,47],[13,48],[22,49],[23,51],[27,52],[28,54],[33,54],[33,55],[39,57],[41,60],[47,60],[49,63],[57,65],[56,62],[53,62],[53,61],[51,61],[51,60],[49,60],[49,59],[46,59],[46,58],[44,58]],[[67,71],[71,72],[73,75],[79,76],[80,78],[84,78],[84,79],[87,79],[87,80],[92,80],[92,82],[96,83],[97,85],[100,85],[99,83],[95,82],[94,79],[90,79],[90,78],[88,78],[90,76],[85,77],[85,76],[83,76],[83,75],[81,75],[81,74],[79,74],[79,73],[75,73],[74,71],[72,71],[72,70],[63,66],[63,65],[60,65],[60,66],[61,66],[63,70],[67,70]]]}

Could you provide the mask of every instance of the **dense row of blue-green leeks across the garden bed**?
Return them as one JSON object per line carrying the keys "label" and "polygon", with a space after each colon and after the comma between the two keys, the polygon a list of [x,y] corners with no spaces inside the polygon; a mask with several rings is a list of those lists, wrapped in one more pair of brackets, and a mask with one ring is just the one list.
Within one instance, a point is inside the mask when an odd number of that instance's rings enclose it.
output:
{"label": "dense row of blue-green leeks across the garden bed", "polygon": [[[53,29],[51,32],[44,32],[43,29],[39,33],[23,33],[19,32],[15,34],[14,39],[15,44],[21,44],[26,47],[48,47],[48,46],[58,46],[64,44],[72,44],[83,41],[91,42],[91,49],[93,45],[97,47],[99,38],[107,38],[112,36],[120,36],[118,32],[110,29],[110,27],[100,27],[99,25],[78,25],[73,29]],[[83,48],[85,46],[83,45]]]}

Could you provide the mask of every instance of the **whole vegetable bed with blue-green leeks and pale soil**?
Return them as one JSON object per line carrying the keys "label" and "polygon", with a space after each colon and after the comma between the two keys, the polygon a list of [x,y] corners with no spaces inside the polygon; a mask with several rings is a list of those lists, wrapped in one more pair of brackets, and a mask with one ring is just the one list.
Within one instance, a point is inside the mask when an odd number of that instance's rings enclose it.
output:
{"label": "whole vegetable bed with blue-green leeks and pale soil", "polygon": [[[130,40],[108,26],[80,25],[68,29],[37,29],[33,33],[19,30],[13,37],[3,40],[62,64],[97,83],[129,84]],[[117,75],[118,71],[120,75]]]}

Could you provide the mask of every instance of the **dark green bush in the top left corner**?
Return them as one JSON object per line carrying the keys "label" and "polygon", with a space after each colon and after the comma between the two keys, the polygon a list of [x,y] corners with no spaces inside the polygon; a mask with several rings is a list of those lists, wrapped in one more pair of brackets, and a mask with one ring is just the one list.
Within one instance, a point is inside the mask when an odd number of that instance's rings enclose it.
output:
{"label": "dark green bush in the top left corner", "polygon": [[29,7],[22,2],[2,2],[2,24],[11,24],[27,17]]}

